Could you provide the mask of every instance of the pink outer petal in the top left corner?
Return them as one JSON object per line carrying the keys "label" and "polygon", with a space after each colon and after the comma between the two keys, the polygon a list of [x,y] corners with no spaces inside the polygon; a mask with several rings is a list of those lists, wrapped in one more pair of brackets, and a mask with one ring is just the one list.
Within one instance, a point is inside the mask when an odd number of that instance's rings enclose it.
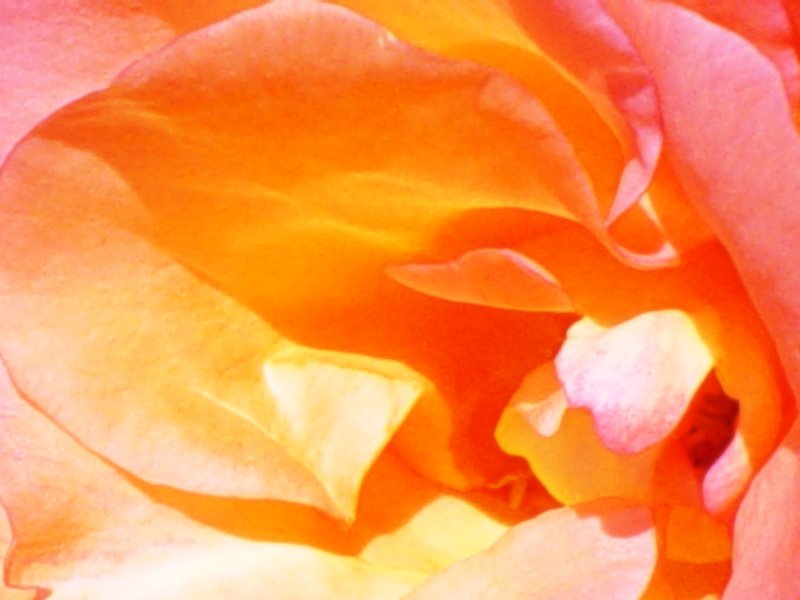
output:
{"label": "pink outer petal in the top left corner", "polygon": [[70,100],[104,87],[175,35],[258,0],[187,10],[163,0],[32,0],[0,5],[0,164],[17,140]]}

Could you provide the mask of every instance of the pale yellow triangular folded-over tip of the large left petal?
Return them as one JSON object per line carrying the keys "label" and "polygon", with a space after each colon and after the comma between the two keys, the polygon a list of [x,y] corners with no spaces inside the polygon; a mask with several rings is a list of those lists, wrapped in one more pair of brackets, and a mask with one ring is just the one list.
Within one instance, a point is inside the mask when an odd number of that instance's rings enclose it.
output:
{"label": "pale yellow triangular folded-over tip of the large left petal", "polygon": [[273,353],[264,377],[273,438],[350,518],[367,469],[431,387],[397,363],[298,346]]}

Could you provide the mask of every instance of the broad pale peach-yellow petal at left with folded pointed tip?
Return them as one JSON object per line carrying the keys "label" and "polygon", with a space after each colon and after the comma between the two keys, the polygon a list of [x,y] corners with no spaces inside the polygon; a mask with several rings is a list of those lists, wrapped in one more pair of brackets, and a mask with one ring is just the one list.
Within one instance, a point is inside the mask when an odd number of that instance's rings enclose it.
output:
{"label": "broad pale peach-yellow petal at left with folded pointed tip", "polygon": [[[41,172],[39,152],[66,171],[51,169],[46,187],[29,179]],[[105,193],[134,201],[106,166],[43,142],[20,156],[28,153],[33,164],[9,169],[5,179],[9,276],[0,301],[11,316],[0,346],[26,394],[79,439],[151,481],[352,516],[364,472],[426,385],[422,379],[382,361],[281,344],[253,312],[121,229],[115,221],[135,214],[131,206],[103,215],[113,210],[102,207]],[[91,180],[86,194],[74,189],[71,169]],[[31,185],[39,187],[38,204],[23,205],[15,198]],[[93,202],[100,206],[86,218]],[[306,361],[290,375],[295,386],[325,380],[348,389],[353,402],[371,394],[369,411],[363,404],[360,411],[372,426],[355,420],[347,402],[325,418],[287,415],[285,394],[269,393],[265,360],[284,379],[292,361]],[[322,424],[327,437],[301,443],[307,433],[298,431],[319,432]],[[341,458],[342,439],[350,459],[332,465],[327,452]]]}

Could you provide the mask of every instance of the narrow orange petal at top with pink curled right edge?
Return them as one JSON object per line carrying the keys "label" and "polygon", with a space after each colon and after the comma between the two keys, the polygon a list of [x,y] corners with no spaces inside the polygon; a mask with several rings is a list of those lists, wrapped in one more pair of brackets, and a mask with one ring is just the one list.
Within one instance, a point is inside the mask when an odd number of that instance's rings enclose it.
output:
{"label": "narrow orange petal at top with pink curled right edge", "polygon": [[[609,235],[604,222],[605,207],[614,196],[620,205],[619,212],[639,200],[652,177],[661,143],[652,83],[630,44],[623,40],[624,33],[614,27],[607,16],[602,17],[606,27],[591,32],[591,25],[587,29],[585,24],[601,19],[584,18],[585,15],[579,14],[579,3],[570,3],[568,10],[564,10],[563,2],[552,3],[552,7],[540,3],[535,10],[522,2],[510,2],[505,6],[485,0],[435,4],[412,1],[402,6],[382,0],[340,0],[336,3],[386,25],[411,43],[445,56],[490,65],[523,82],[541,100],[574,148],[580,161],[576,172],[585,170],[592,180],[594,189],[589,194],[581,198],[577,195],[564,197],[574,215],[612,252],[627,261],[642,267],[663,266],[675,261],[674,248],[665,243],[657,222],[650,226],[656,230],[650,240],[655,245],[630,249],[627,244],[631,240],[627,236],[617,239]],[[592,10],[604,15],[600,7],[592,7],[589,12]],[[558,36],[559,47],[542,45],[546,52],[553,53],[555,61],[536,45],[542,44],[540,37],[548,31],[573,29],[578,30],[575,35]],[[594,36],[595,33],[598,35]],[[564,39],[569,43],[564,45]],[[589,48],[585,54],[589,62],[594,61],[589,69],[584,68],[586,65],[579,65],[580,60],[575,60],[580,54],[576,51],[576,44],[584,39],[588,40],[586,46]],[[598,53],[598,47],[606,52]],[[600,54],[602,56],[597,60]],[[609,60],[610,57],[614,60]],[[573,71],[570,75],[581,80],[583,89],[576,89],[573,77],[565,76],[564,67]],[[593,93],[593,102],[585,98],[587,89]],[[609,94],[612,99],[609,99]],[[621,134],[623,143],[638,145],[627,149],[627,166],[621,160],[619,143],[598,117],[598,105],[608,108],[604,110],[604,116]],[[620,118],[618,109],[623,110],[625,118]],[[532,156],[530,160],[537,162]],[[624,171],[622,181],[617,177],[620,171]],[[577,183],[578,178],[574,181]],[[633,212],[641,212],[639,208],[635,207]],[[635,237],[634,242],[637,241]]]}

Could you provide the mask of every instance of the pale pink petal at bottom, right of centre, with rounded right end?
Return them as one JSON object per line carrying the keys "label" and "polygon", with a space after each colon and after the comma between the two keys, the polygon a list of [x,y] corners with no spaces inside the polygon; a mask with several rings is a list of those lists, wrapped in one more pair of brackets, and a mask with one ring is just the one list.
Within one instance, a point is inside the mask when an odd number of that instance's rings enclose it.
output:
{"label": "pale pink petal at bottom, right of centre, with rounded right end", "polygon": [[409,600],[641,597],[656,564],[653,522],[609,504],[551,510],[457,563]]}

